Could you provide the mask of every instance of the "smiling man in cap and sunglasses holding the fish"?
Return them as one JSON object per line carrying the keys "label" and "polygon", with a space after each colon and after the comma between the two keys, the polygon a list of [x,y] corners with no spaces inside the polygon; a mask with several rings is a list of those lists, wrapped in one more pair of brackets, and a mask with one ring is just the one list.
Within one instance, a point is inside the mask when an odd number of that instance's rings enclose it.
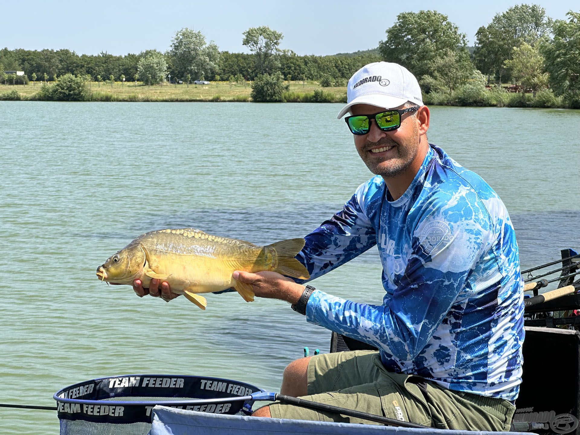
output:
{"label": "smiling man in cap and sunglasses holding the fish", "polygon": [[[427,142],[429,108],[414,75],[368,64],[351,77],[346,124],[375,173],[305,237],[298,260],[317,278],[378,246],[379,306],[336,298],[274,271],[235,271],[260,298],[368,343],[288,365],[281,394],[440,429],[508,430],[521,382],[523,282],[512,223],[475,173]],[[272,269],[270,269],[272,270]],[[153,279],[137,295],[177,295]],[[301,281],[302,282],[302,281]],[[256,416],[369,423],[274,403]]]}

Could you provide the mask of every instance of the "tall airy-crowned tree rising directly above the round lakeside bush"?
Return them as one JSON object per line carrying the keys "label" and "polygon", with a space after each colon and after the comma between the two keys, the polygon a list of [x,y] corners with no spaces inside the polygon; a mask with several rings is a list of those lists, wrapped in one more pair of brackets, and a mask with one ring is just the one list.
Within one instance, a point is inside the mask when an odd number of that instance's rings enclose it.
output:
{"label": "tall airy-crowned tree rising directly above the round lakeside bush", "polygon": [[242,44],[253,53],[256,71],[259,74],[270,74],[280,68],[278,45],[283,35],[268,26],[250,27],[243,33]]}

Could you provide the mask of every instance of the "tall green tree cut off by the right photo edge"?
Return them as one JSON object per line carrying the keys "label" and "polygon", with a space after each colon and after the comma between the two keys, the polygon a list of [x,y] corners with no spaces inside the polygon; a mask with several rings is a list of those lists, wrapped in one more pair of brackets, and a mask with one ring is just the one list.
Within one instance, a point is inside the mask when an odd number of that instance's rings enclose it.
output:
{"label": "tall green tree cut off by the right photo edge", "polygon": [[550,86],[570,107],[580,108],[580,12],[568,12],[568,20],[556,20],[554,38],[542,44]]}

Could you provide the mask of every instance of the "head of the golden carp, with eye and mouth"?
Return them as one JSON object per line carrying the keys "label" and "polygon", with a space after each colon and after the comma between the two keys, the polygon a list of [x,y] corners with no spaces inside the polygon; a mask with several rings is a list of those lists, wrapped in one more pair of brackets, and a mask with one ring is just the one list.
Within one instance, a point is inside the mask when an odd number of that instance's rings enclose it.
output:
{"label": "head of the golden carp, with eye and mouth", "polygon": [[97,277],[101,281],[117,284],[132,284],[140,276],[145,264],[145,252],[140,245],[129,245],[107,258],[97,267]]}

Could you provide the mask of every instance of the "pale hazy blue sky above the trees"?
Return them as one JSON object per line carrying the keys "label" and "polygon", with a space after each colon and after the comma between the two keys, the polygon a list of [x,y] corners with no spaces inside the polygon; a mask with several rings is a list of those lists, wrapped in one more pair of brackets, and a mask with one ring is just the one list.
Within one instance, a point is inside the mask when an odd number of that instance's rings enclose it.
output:
{"label": "pale hazy blue sky above the trees", "polygon": [[[77,54],[165,51],[182,27],[201,30],[220,50],[247,52],[242,32],[269,26],[282,32],[280,48],[298,55],[333,55],[375,48],[397,14],[435,9],[473,45],[474,34],[516,1],[150,1],[0,0],[0,48],[68,48]],[[532,2],[530,2],[531,4]],[[580,12],[580,0],[536,2],[553,19]]]}

